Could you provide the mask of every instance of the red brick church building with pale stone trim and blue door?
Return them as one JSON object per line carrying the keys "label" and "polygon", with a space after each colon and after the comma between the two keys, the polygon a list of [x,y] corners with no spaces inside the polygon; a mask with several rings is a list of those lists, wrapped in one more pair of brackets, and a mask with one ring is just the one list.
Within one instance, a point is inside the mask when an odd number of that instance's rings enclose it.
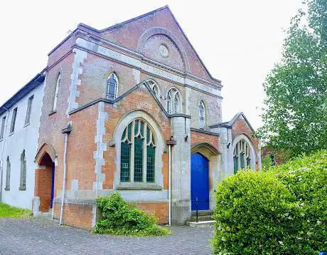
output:
{"label": "red brick church building with pale stone trim and blue door", "polygon": [[[95,198],[119,192],[160,223],[184,224],[196,200],[200,210],[215,207],[223,178],[261,165],[250,123],[243,113],[223,122],[221,81],[168,6],[102,30],[79,24],[39,76],[38,139],[26,170],[35,214],[90,229],[100,217]],[[6,156],[1,162],[6,181]]]}

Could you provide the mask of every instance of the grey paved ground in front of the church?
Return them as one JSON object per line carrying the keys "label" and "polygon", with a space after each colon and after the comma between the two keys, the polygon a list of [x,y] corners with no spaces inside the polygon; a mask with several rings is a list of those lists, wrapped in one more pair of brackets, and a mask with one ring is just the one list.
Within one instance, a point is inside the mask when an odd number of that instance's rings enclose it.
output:
{"label": "grey paved ground in front of the church", "polygon": [[0,218],[3,254],[210,254],[212,228],[171,227],[171,236],[126,237],[58,227],[49,219]]}

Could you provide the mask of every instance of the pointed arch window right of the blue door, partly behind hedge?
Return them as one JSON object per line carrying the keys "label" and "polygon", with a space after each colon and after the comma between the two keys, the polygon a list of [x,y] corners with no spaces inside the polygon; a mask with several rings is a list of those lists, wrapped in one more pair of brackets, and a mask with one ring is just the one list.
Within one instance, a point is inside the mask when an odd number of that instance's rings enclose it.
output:
{"label": "pointed arch window right of the blue door, partly behind hedge", "polygon": [[234,152],[233,152],[233,160],[234,160],[234,173],[241,169],[251,168],[251,149],[250,145],[242,139],[237,142]]}

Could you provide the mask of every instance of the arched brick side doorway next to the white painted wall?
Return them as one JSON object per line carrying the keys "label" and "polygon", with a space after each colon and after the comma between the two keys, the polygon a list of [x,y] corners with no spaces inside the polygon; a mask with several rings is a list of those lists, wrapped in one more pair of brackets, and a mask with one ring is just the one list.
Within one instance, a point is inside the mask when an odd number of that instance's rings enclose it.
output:
{"label": "arched brick side doorway next to the white painted wall", "polygon": [[38,162],[35,172],[35,197],[39,198],[40,212],[49,212],[53,207],[55,186],[55,163],[47,152],[43,154]]}

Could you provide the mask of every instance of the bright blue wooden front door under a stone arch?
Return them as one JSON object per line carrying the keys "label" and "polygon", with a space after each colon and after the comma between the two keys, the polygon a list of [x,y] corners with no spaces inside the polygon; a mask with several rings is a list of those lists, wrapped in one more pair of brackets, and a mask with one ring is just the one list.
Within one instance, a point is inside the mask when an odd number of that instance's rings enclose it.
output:
{"label": "bright blue wooden front door under a stone arch", "polygon": [[191,155],[191,209],[209,209],[209,160],[200,153]]}

